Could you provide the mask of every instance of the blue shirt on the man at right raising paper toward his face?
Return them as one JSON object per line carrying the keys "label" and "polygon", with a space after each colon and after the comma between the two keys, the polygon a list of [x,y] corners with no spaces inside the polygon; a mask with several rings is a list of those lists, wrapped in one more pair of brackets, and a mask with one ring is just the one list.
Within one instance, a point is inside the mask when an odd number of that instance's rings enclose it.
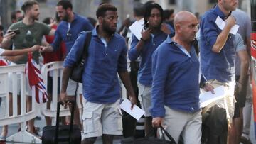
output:
{"label": "blue shirt on the man at right raising paper toward his face", "polygon": [[220,82],[235,80],[235,48],[233,45],[234,35],[229,34],[223,49],[219,53],[213,52],[212,48],[220,32],[215,23],[217,16],[223,20],[225,15],[220,8],[215,6],[201,17],[201,70],[206,79],[217,79]]}

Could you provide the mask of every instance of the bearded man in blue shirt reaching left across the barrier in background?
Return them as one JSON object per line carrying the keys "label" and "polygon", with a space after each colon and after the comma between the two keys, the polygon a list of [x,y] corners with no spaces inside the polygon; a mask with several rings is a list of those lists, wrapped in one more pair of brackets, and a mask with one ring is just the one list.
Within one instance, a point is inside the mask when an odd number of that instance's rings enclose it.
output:
{"label": "bearded man in blue shirt reaching left across the barrier in background", "polygon": [[[70,1],[61,0],[58,1],[56,11],[58,16],[62,20],[56,30],[53,43],[48,47],[41,47],[42,52],[52,52],[60,48],[60,43],[63,41],[66,46],[66,52],[70,52],[70,49],[78,38],[78,34],[82,31],[91,31],[93,29],[92,24],[87,18],[79,16],[73,12],[73,6]],[[69,80],[68,82],[68,99],[75,100],[75,92],[78,87],[78,82]],[[74,123],[78,124],[81,128],[80,116],[78,106],[75,109]]]}

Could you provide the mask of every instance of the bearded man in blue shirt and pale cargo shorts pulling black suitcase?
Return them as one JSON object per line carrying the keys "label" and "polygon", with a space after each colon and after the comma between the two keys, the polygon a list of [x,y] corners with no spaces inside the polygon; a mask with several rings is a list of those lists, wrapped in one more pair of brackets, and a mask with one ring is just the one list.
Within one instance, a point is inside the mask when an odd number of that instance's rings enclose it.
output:
{"label": "bearded man in blue shirt and pale cargo shorts pulling black suitcase", "polygon": [[[102,136],[103,143],[113,143],[113,135],[122,135],[117,74],[127,89],[132,106],[137,102],[127,72],[127,46],[124,38],[115,33],[117,8],[111,4],[102,4],[96,15],[99,26],[92,30],[82,73],[84,144],[95,143],[98,136]],[[68,99],[66,92],[70,72],[82,55],[87,36],[86,32],[80,33],[64,61],[60,91],[60,100],[63,102]]]}

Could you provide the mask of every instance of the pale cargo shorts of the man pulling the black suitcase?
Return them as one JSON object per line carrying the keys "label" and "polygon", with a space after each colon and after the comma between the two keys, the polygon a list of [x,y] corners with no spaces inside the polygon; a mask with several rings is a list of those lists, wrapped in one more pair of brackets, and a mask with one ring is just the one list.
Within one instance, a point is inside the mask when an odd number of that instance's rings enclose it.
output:
{"label": "pale cargo shorts of the man pulling the black suitcase", "polygon": [[97,104],[82,99],[83,138],[122,135],[122,115],[119,100],[112,104]]}

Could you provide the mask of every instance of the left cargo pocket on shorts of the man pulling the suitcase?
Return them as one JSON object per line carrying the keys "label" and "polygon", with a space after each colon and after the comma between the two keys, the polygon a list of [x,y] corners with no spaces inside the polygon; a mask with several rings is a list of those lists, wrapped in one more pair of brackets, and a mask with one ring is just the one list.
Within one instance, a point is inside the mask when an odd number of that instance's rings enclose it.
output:
{"label": "left cargo pocket on shorts of the man pulling the suitcase", "polygon": [[92,112],[85,112],[82,114],[82,125],[84,128],[84,133],[90,133],[95,131],[95,126],[92,118]]}

